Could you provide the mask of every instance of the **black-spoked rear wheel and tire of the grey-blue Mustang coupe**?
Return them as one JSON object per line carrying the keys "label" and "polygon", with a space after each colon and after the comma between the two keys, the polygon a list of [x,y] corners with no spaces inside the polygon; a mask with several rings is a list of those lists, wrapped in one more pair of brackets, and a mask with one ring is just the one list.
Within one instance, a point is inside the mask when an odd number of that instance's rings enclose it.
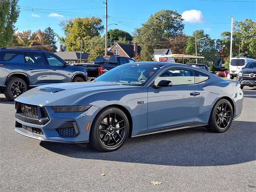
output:
{"label": "black-spoked rear wheel and tire of the grey-blue Mustang coupe", "polygon": [[206,128],[211,132],[223,133],[230,128],[233,116],[230,102],[226,99],[220,99],[212,108]]}

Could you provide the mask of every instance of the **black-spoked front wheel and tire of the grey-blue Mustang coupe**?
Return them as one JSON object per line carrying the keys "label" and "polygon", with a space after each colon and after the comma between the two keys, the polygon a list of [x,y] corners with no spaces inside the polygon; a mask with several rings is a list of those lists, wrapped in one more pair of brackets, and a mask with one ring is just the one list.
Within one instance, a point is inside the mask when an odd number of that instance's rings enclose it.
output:
{"label": "black-spoked front wheel and tire of the grey-blue Mustang coupe", "polygon": [[119,149],[129,133],[129,121],[126,114],[116,107],[102,110],[92,122],[89,142],[92,148],[111,152]]}

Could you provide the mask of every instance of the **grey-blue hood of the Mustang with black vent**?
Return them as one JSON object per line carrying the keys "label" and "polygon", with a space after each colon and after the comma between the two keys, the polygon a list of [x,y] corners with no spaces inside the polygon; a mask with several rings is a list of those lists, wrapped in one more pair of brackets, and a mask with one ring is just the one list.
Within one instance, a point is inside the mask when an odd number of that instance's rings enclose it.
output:
{"label": "grey-blue hood of the Mustang with black vent", "polygon": [[49,84],[28,90],[15,99],[17,102],[54,106],[76,105],[92,94],[117,90],[140,89],[139,86],[121,85],[112,82],[77,82]]}

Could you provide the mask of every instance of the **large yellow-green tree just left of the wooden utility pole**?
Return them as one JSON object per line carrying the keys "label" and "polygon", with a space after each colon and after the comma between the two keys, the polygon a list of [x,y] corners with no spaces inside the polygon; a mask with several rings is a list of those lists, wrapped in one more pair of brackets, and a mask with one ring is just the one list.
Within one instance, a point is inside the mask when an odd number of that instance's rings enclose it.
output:
{"label": "large yellow-green tree just left of the wooden utility pole", "polygon": [[102,20],[96,17],[75,18],[72,24],[70,22],[65,26],[68,34],[65,39],[67,51],[80,51],[81,40],[85,42],[85,50],[86,43],[94,36],[99,36],[104,29]]}

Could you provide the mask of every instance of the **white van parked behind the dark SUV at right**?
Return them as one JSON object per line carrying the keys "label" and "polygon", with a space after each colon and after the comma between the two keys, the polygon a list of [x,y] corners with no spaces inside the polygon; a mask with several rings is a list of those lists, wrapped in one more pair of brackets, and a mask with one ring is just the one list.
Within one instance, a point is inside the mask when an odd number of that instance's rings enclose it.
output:
{"label": "white van parked behind the dark SUV at right", "polygon": [[230,79],[234,79],[250,60],[255,59],[247,58],[246,56],[235,56],[234,58],[231,58],[229,62]]}

